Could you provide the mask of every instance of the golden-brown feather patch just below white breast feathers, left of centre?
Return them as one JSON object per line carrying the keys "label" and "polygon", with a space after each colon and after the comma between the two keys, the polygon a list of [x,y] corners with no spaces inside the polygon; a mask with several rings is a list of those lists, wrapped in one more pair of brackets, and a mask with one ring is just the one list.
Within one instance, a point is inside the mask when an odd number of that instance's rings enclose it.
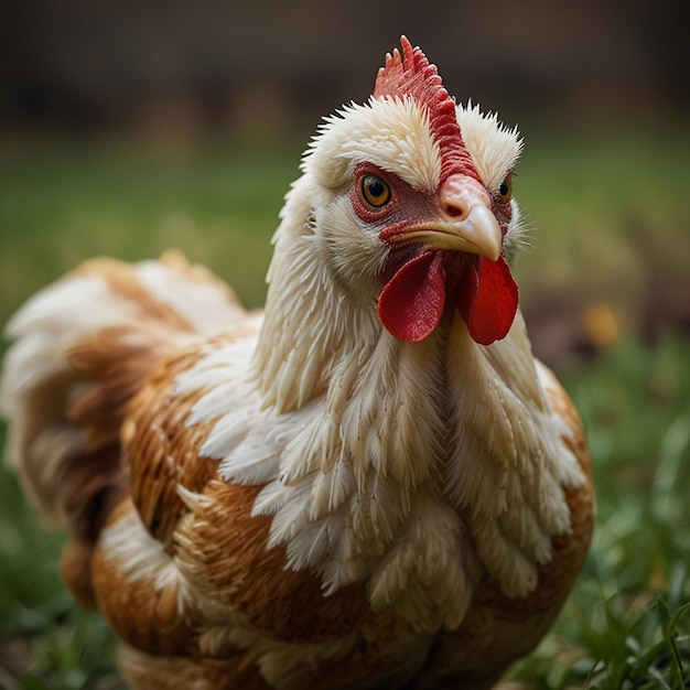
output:
{"label": "golden-brown feather patch just below white breast feathers, left of centre", "polygon": [[250,515],[261,488],[211,482],[200,513],[180,526],[180,562],[201,573],[200,590],[271,638],[319,643],[356,630],[368,611],[365,589],[324,596],[316,573],[287,570],[284,548],[266,546],[271,518]]}

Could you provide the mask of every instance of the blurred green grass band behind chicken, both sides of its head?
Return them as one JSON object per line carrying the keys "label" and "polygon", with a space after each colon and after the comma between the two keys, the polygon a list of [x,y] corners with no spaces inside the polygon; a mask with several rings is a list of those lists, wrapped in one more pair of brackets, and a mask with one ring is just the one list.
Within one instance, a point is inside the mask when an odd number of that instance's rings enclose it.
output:
{"label": "blurred green grass band behind chicken, both sides of its head", "polygon": [[[270,148],[26,140],[0,148],[0,320],[93,256],[169,247],[263,302],[270,237],[309,133]],[[552,288],[635,309],[659,274],[690,271],[690,130],[522,123],[514,193],[532,245],[524,300]]]}

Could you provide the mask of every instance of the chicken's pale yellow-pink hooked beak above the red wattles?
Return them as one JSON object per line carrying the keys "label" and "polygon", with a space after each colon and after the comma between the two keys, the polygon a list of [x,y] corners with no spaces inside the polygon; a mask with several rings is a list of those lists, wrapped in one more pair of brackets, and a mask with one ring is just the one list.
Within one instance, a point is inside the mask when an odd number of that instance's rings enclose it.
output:
{"label": "chicken's pale yellow-pink hooked beak above the red wattles", "polygon": [[484,186],[467,175],[451,175],[439,191],[439,201],[438,219],[408,227],[389,241],[419,242],[430,250],[462,251],[496,261],[503,231]]}

